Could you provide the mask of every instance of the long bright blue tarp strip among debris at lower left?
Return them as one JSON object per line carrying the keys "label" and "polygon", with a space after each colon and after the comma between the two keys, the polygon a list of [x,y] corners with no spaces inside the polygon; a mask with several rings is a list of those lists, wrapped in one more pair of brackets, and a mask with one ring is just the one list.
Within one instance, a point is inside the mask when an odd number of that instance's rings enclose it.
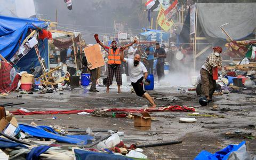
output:
{"label": "long bright blue tarp strip among debris at lower left", "polygon": [[93,139],[90,135],[67,135],[62,136],[59,134],[54,134],[43,130],[42,128],[37,128],[30,125],[20,124],[20,129],[23,132],[28,133],[29,135],[33,135],[38,138],[47,138],[47,139],[55,139],[59,142],[77,144],[77,145],[86,145],[88,141]]}

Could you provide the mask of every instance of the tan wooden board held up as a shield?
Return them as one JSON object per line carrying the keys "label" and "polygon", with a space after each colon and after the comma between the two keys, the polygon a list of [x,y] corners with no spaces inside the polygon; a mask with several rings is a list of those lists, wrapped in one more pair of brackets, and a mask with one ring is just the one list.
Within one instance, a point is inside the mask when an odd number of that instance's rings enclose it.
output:
{"label": "tan wooden board held up as a shield", "polygon": [[105,66],[105,61],[103,59],[99,44],[94,44],[92,46],[85,47],[83,50],[87,62],[92,64],[92,67],[89,69]]}

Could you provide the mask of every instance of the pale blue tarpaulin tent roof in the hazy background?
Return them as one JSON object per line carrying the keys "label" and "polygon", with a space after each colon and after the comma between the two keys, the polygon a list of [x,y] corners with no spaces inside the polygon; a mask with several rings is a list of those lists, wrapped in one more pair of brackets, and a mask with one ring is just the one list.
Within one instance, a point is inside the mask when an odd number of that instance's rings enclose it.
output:
{"label": "pale blue tarpaulin tent roof in the hazy background", "polygon": [[170,37],[170,33],[162,30],[146,28],[142,28],[142,30],[145,30],[145,32],[140,34],[141,41],[167,42]]}

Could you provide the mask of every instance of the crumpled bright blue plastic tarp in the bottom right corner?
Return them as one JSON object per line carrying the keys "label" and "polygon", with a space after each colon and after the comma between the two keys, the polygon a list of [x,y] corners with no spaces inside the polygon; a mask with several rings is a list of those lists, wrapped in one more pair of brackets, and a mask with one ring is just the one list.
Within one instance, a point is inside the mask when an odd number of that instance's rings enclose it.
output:
{"label": "crumpled bright blue plastic tarp in the bottom right corner", "polygon": [[245,145],[245,141],[239,143],[239,145],[229,145],[214,154],[210,153],[209,151],[203,150],[196,156],[195,160],[227,160],[231,153],[237,151],[243,145]]}

